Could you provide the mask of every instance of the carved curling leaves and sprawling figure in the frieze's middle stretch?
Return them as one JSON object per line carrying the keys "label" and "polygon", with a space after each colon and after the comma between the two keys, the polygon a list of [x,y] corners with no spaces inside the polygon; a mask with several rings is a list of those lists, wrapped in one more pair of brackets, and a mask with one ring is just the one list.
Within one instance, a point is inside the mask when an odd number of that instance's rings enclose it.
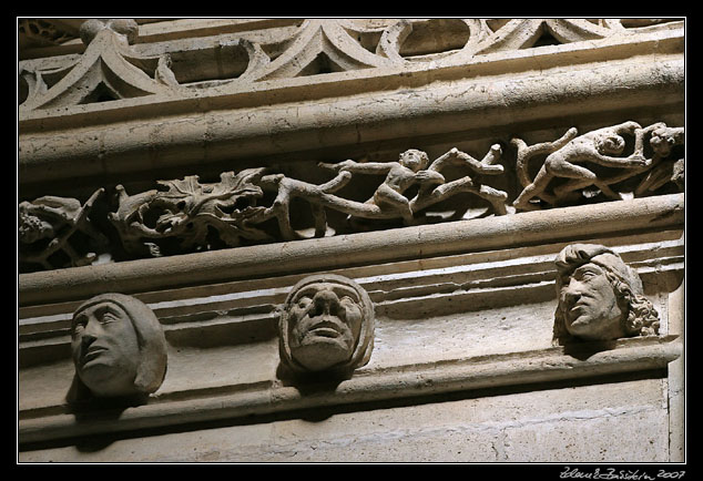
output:
{"label": "carved curling leaves and sprawling figure in the frieze's middle stretch", "polygon": [[[329,232],[327,211],[346,214],[355,219],[403,219],[406,225],[424,222],[421,211],[459,193],[469,193],[490,204],[496,215],[507,213],[507,194],[473,181],[469,175],[446,182],[441,171],[452,165],[466,174],[477,172],[500,175],[497,164],[500,146],[493,145],[480,162],[452,149],[431,164],[425,152],[408,150],[398,161],[320,163],[320,168],[334,173],[328,182],[316,185],[283,174],[264,175],[264,168],[249,168],[237,174],[226,172],[216,184],[201,184],[197,176],[160,182],[164,191],[128,195],[118,186],[119,208],[110,219],[120,233],[125,250],[137,255],[161,255],[164,239],[177,239],[181,249],[216,248],[217,244],[236,247],[249,242],[295,240],[305,238],[292,223],[291,205],[302,199],[313,216],[314,236]],[[385,180],[371,198],[355,201],[335,195],[355,176],[381,174]],[[410,187],[414,194],[405,194]],[[257,205],[271,193],[271,205]],[[463,214],[463,212],[459,212]],[[275,221],[277,233],[257,227]],[[304,229],[303,229],[304,231]],[[213,236],[216,233],[217,236]],[[216,238],[215,238],[216,237]]]}

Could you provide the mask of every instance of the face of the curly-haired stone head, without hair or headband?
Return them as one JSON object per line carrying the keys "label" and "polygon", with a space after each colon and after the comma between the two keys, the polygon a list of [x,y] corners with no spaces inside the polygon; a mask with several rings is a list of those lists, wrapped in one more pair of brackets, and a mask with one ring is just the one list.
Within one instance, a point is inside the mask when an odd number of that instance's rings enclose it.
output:
{"label": "face of the curly-haired stone head, without hair or headband", "polygon": [[605,272],[595,264],[577,268],[561,287],[559,308],[564,327],[573,335],[590,340],[624,337],[624,316]]}

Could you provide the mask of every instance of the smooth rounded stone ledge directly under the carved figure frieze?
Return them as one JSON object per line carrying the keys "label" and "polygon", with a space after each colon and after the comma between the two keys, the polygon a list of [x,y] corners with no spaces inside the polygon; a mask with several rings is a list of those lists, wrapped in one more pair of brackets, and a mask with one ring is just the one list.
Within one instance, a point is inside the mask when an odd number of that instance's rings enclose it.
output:
{"label": "smooth rounded stone ledge directly under the carved figure frieze", "polygon": [[[684,194],[19,276],[19,305],[431,258],[684,225]],[[389,243],[388,239],[393,239]]]}

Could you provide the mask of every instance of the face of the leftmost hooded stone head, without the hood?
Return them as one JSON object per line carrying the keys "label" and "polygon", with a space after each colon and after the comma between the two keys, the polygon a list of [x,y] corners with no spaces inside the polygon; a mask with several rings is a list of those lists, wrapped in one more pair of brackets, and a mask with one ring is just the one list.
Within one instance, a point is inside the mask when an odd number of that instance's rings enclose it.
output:
{"label": "face of the leftmost hooded stone head, without the hood", "polygon": [[134,393],[139,340],[129,315],[119,305],[103,301],[75,313],[71,349],[75,371],[93,395]]}

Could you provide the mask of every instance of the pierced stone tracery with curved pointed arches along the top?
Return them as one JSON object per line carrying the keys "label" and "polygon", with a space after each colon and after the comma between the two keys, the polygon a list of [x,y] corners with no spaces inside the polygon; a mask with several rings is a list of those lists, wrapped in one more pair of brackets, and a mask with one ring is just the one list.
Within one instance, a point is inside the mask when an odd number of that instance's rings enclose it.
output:
{"label": "pierced stone tracery with curved pointed arches along the top", "polygon": [[[20,29],[28,30],[30,24]],[[249,40],[245,33],[226,40],[217,47],[225,62],[218,70],[230,74],[180,82],[169,53],[149,57],[132,49],[139,34],[134,20],[92,19],[80,27],[86,49],[75,62],[50,69],[20,68],[21,111],[152,94],[177,98],[193,88],[226,92],[230,86],[240,89],[252,82],[412,62],[439,65],[543,42],[592,41],[666,28],[669,23],[662,19],[308,19],[268,41]],[[179,54],[198,58],[197,52]],[[241,68],[243,59],[245,66]]]}

